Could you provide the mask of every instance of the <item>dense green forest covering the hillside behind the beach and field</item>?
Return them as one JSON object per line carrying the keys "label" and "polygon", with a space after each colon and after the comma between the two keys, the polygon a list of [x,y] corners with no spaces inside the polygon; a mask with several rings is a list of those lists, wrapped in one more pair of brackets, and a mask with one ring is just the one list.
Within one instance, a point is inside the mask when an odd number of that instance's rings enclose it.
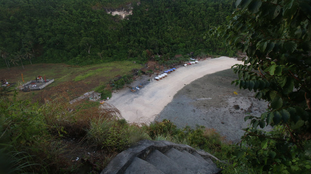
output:
{"label": "dense green forest covering the hillside behind the beach and field", "polygon": [[[205,36],[233,9],[234,0],[1,0],[0,66],[232,55]],[[121,19],[112,10],[133,14]]]}

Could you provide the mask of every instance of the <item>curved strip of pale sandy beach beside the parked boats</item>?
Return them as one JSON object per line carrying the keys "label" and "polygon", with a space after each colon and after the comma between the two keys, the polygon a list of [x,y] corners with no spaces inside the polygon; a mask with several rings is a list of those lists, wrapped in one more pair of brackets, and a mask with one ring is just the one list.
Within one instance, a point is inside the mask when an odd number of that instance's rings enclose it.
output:
{"label": "curved strip of pale sandy beach beside the parked boats", "polygon": [[139,90],[132,93],[128,88],[112,94],[107,101],[121,111],[121,115],[130,123],[150,123],[155,116],[169,104],[173,96],[195,79],[217,71],[229,69],[236,63],[242,63],[237,59],[220,57],[200,61],[198,64],[177,68],[168,77],[159,81],[152,81]]}

